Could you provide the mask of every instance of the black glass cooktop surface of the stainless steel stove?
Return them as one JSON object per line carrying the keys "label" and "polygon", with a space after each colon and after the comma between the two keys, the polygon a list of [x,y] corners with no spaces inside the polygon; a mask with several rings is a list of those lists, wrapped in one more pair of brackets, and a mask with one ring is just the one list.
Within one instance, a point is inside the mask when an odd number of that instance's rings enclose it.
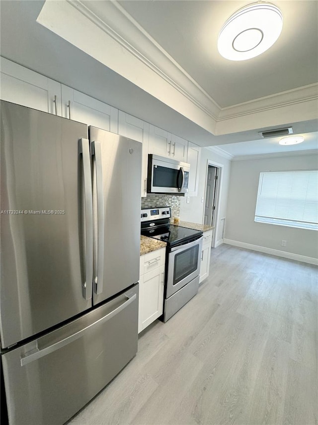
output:
{"label": "black glass cooktop surface of the stainless steel stove", "polygon": [[202,232],[170,224],[154,229],[143,229],[141,234],[150,238],[159,239],[160,241],[166,242],[169,246],[173,246],[195,240],[202,235]]}

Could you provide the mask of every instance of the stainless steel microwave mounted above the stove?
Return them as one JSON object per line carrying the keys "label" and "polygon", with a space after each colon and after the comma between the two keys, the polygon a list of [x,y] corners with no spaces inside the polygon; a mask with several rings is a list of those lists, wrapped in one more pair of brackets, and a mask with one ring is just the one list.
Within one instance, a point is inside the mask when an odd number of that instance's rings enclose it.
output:
{"label": "stainless steel microwave mounted above the stove", "polygon": [[189,171],[186,162],[149,154],[147,193],[187,193]]}

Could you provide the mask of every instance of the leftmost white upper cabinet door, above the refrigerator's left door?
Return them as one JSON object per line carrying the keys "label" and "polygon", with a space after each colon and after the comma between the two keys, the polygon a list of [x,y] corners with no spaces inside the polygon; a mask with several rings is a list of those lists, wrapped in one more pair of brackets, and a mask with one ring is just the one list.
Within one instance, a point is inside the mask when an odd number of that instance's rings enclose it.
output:
{"label": "leftmost white upper cabinet door, above the refrigerator's left door", "polygon": [[61,84],[1,58],[1,99],[61,116]]}

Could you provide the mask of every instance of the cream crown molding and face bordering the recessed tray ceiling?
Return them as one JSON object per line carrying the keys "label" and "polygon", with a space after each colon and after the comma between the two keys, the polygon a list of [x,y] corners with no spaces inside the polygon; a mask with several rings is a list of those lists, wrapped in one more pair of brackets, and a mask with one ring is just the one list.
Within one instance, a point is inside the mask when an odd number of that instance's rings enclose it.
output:
{"label": "cream crown molding and face bordering the recessed tray ceiling", "polygon": [[221,109],[116,0],[45,1],[37,22],[213,135],[306,121],[318,100],[312,84]]}

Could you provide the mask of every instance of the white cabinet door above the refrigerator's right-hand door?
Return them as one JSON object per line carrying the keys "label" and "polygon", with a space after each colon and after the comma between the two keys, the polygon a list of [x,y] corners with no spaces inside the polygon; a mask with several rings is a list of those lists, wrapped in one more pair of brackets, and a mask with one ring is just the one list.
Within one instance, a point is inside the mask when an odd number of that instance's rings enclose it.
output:
{"label": "white cabinet door above the refrigerator's right-hand door", "polygon": [[62,117],[118,134],[118,109],[63,84]]}

